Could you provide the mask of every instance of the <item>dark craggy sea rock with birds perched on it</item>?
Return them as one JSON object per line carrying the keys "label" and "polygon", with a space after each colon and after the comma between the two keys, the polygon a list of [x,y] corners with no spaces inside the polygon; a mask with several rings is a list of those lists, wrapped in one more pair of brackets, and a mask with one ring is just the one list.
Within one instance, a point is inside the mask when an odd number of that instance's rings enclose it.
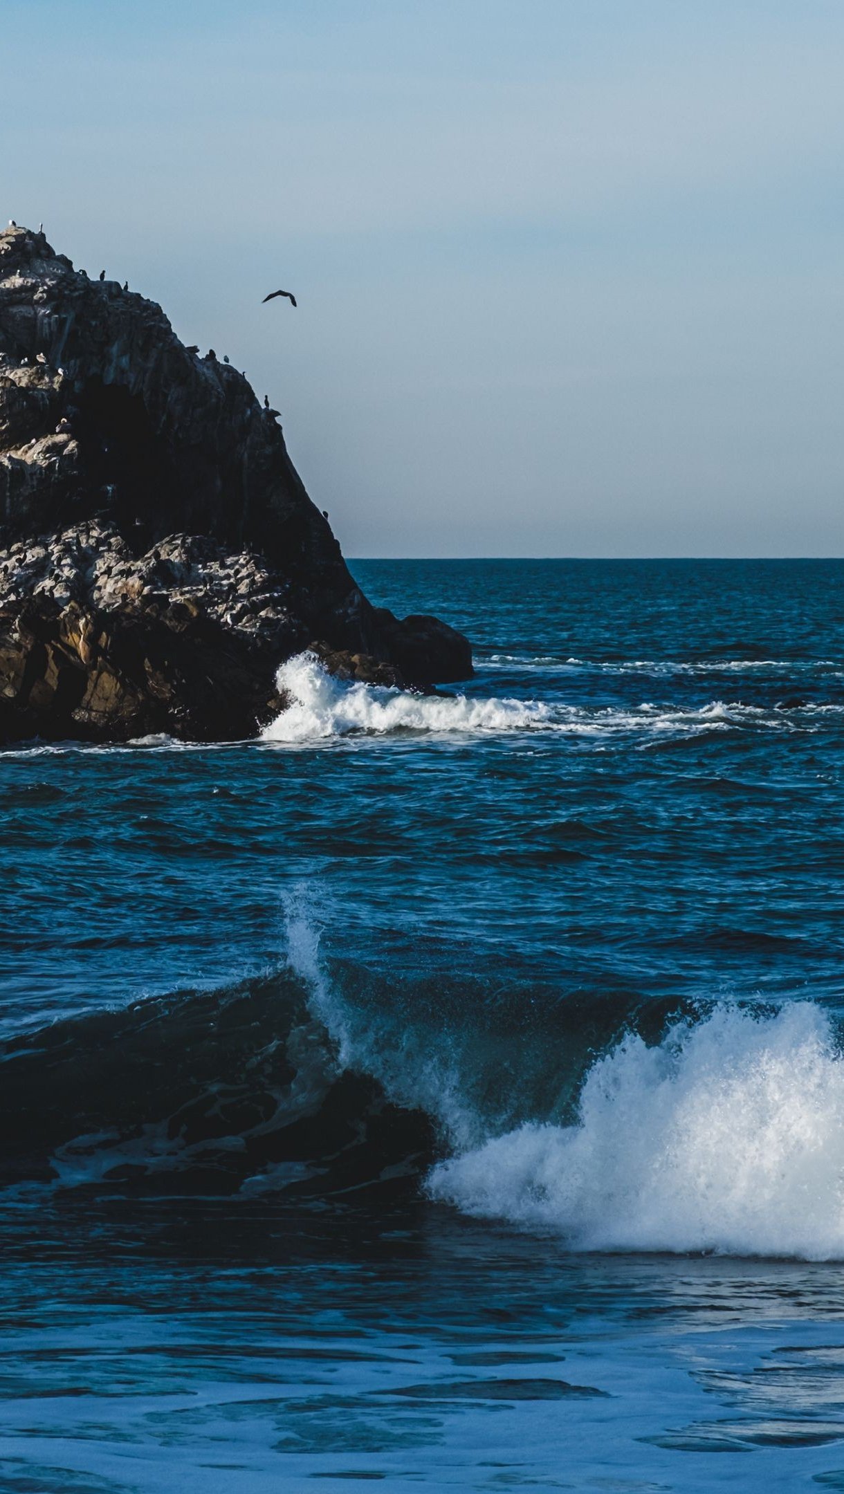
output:
{"label": "dark craggy sea rock with birds perched on it", "polygon": [[375,683],[472,672],[445,623],[370,607],[242,374],[25,229],[0,233],[0,740],[252,735],[314,639]]}

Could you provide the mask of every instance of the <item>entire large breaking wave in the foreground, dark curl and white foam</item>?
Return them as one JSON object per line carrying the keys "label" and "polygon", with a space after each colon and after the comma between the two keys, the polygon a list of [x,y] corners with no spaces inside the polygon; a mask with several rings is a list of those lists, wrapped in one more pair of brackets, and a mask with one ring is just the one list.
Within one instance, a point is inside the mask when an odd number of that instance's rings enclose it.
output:
{"label": "entire large breaking wave in the foreground, dark curl and white foam", "polygon": [[814,1004],[376,979],[296,905],[287,943],[263,980],[9,1040],[3,1185],[426,1191],[577,1250],[844,1259],[844,1058]]}

